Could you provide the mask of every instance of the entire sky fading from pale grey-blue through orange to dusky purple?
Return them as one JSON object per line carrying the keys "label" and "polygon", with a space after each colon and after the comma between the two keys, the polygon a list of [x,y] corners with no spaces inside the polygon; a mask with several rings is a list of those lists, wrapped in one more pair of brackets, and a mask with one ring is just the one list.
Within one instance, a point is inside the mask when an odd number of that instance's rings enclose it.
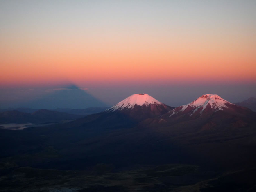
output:
{"label": "entire sky fading from pale grey-blue through orange to dusky purple", "polygon": [[256,95],[256,1],[0,0],[0,10],[0,104],[10,89],[70,83],[109,105],[135,91],[166,102],[175,91],[176,106]]}

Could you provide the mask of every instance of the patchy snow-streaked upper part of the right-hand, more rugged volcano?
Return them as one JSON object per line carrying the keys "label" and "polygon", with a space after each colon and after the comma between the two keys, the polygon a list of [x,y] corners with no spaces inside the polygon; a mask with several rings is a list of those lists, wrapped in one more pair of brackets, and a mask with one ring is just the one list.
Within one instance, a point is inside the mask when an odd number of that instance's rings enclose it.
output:
{"label": "patchy snow-streaked upper part of the right-hand, more rugged volcano", "polygon": [[[232,103],[226,101],[225,99],[221,98],[220,96],[216,94],[206,94],[202,95],[201,97],[197,98],[193,102],[183,105],[180,107],[177,107],[171,111],[169,111],[169,117],[177,114],[185,114],[190,113],[190,116],[192,116],[194,113],[200,113],[202,114],[203,111],[220,111],[227,108],[230,108]],[[235,106],[235,105],[234,105]]]}

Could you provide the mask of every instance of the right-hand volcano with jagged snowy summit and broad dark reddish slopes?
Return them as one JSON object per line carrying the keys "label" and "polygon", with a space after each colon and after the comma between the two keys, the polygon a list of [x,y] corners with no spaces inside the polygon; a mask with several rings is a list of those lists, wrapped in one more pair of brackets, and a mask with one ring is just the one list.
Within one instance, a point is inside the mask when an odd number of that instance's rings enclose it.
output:
{"label": "right-hand volcano with jagged snowy summit and broad dark reddish slopes", "polygon": [[255,120],[255,114],[248,108],[239,107],[217,95],[208,94],[188,105],[169,111],[160,119],[154,119],[152,123],[173,125],[190,122],[190,126],[196,124],[203,129],[231,124],[233,127],[244,127]]}

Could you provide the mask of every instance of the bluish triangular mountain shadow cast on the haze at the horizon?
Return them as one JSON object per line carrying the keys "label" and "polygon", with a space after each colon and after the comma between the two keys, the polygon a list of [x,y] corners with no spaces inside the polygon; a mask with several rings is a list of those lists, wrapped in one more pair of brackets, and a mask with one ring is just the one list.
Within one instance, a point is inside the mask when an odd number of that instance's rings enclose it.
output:
{"label": "bluish triangular mountain shadow cast on the haze at the horizon", "polygon": [[49,89],[46,90],[46,92],[47,94],[41,98],[27,102],[24,104],[24,106],[39,109],[81,109],[107,106],[106,103],[95,98],[76,85],[71,85],[60,89]]}

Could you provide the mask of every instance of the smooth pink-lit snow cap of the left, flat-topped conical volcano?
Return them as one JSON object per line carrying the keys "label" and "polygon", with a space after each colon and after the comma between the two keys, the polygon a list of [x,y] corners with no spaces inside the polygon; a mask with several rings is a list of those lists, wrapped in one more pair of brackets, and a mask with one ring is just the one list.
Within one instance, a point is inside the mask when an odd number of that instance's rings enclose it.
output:
{"label": "smooth pink-lit snow cap of the left, flat-topped conical volcano", "polygon": [[139,94],[133,94],[130,97],[127,97],[126,99],[122,100],[121,102],[117,103],[113,107],[107,109],[106,111],[119,111],[123,109],[133,109],[135,105],[150,105],[150,104],[157,104],[157,105],[163,105],[163,103],[159,102],[155,98],[149,96],[145,93],[139,93]]}

